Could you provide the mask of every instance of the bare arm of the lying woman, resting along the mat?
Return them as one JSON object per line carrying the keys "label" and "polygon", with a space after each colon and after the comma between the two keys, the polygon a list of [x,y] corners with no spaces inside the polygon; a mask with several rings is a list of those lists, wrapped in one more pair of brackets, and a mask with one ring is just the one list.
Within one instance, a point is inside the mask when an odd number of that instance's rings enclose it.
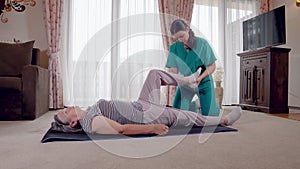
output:
{"label": "bare arm of the lying woman, resting along the mat", "polygon": [[92,131],[98,134],[165,135],[169,128],[164,124],[120,124],[104,116],[95,116],[92,119]]}

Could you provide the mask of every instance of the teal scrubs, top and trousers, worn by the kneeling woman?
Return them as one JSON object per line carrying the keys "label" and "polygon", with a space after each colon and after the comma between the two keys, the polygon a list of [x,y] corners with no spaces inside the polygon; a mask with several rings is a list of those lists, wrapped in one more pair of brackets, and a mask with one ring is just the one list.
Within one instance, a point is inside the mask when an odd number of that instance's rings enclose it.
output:
{"label": "teal scrubs, top and trousers, worn by the kneeling woman", "polygon": [[[189,76],[195,73],[199,67],[202,68],[202,74],[206,67],[216,60],[209,43],[203,38],[196,37],[195,46],[188,52],[182,43],[177,41],[172,44],[166,67],[177,68],[180,74]],[[211,75],[205,77],[196,89],[192,89],[187,85],[178,86],[173,107],[197,112],[196,104],[192,102],[195,94],[200,100],[201,113],[203,115],[219,115],[220,108],[216,102],[214,81]]]}

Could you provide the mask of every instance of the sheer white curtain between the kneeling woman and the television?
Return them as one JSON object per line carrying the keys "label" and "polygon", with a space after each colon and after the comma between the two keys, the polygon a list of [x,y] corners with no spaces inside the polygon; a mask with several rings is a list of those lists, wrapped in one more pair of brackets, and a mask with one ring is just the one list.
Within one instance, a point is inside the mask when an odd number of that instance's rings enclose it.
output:
{"label": "sheer white curtain between the kneeling woman and the television", "polygon": [[242,21],[259,13],[257,0],[195,0],[191,26],[208,40],[223,74],[223,104],[239,102],[239,58]]}

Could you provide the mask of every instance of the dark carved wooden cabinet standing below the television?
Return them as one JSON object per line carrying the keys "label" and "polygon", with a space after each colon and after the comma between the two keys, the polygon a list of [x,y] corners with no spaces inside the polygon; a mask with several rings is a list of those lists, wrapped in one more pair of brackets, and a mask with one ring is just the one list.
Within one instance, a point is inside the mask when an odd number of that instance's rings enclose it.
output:
{"label": "dark carved wooden cabinet standing below the television", "polygon": [[267,113],[288,113],[288,55],[291,49],[269,47],[239,53],[240,106]]}

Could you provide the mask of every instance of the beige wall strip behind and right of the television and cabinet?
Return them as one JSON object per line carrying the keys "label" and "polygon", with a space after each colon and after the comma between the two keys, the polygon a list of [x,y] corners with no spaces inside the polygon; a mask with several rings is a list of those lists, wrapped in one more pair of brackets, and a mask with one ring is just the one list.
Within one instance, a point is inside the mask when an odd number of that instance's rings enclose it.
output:
{"label": "beige wall strip behind and right of the television and cabinet", "polygon": [[285,5],[287,43],[280,47],[291,48],[289,60],[289,106],[300,107],[300,7],[296,0],[271,0],[271,10]]}

